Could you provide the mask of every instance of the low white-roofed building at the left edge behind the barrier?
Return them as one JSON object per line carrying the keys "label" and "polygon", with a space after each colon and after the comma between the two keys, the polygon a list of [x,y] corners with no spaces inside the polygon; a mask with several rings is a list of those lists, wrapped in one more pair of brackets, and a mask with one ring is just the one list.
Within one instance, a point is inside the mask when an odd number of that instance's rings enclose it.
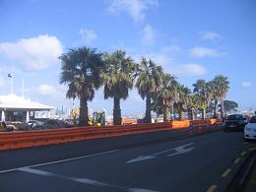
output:
{"label": "low white-roofed building at the left edge behind the barrier", "polygon": [[52,106],[32,101],[23,96],[0,96],[1,121],[28,122],[34,118],[35,111],[49,111]]}

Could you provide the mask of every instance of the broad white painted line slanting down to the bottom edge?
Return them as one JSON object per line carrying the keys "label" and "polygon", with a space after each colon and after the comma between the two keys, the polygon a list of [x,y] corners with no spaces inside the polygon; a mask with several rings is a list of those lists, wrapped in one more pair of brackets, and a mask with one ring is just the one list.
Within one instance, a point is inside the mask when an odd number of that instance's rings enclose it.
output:
{"label": "broad white painted line slanting down to the bottom edge", "polygon": [[93,185],[97,187],[110,187],[110,188],[116,188],[116,189],[122,189],[124,191],[129,191],[129,192],[157,192],[153,190],[148,190],[148,189],[140,189],[140,188],[128,188],[124,186],[118,186],[114,184],[108,184],[105,182],[89,179],[89,178],[77,178],[77,177],[69,177],[69,176],[64,176],[64,175],[59,175],[59,174],[54,174],[45,170],[39,170],[39,169],[34,169],[34,168],[29,168],[29,167],[23,167],[23,168],[18,168],[17,170],[24,171],[24,172],[29,172],[33,174],[38,174],[41,176],[53,176],[57,178],[62,178],[74,182],[79,182],[79,183],[84,183],[88,185]]}

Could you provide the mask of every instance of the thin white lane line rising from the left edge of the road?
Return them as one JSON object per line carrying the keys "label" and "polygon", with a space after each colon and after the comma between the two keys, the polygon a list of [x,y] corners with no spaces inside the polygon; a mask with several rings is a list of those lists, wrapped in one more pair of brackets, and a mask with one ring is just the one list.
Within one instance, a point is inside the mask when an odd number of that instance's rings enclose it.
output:
{"label": "thin white lane line rising from the left edge of the road", "polygon": [[82,160],[82,159],[87,159],[87,158],[93,158],[93,157],[96,157],[96,156],[112,154],[112,153],[115,153],[115,152],[118,152],[118,151],[119,150],[112,150],[112,151],[108,151],[108,152],[102,152],[102,153],[93,154],[93,155],[81,156],[81,157],[77,157],[77,158],[71,158],[71,159],[65,159],[65,160],[54,160],[54,161],[50,161],[50,162],[43,162],[43,163],[38,163],[38,164],[32,164],[32,165],[29,165],[29,166],[10,168],[10,169],[6,169],[6,170],[0,170],[0,174],[1,173],[5,173],[5,172],[15,171],[15,170],[18,170],[20,168],[32,168],[32,167],[49,165],[49,164],[56,164],[56,163],[61,163],[61,162],[66,162],[66,161],[71,161],[71,160]]}

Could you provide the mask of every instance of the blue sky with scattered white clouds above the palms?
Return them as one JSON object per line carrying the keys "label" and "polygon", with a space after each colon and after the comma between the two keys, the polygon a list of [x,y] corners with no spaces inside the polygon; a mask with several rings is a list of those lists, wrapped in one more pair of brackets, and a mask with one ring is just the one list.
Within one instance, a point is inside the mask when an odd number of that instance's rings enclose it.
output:
{"label": "blue sky with scattered white clouds above the palms", "polygon": [[[192,88],[198,79],[228,77],[227,99],[256,109],[256,2],[254,0],[0,0],[0,95],[16,95],[55,107],[76,105],[59,85],[60,61],[69,48],[123,48],[135,61],[153,59]],[[102,90],[90,108],[106,108]],[[123,113],[143,113],[134,89]]]}

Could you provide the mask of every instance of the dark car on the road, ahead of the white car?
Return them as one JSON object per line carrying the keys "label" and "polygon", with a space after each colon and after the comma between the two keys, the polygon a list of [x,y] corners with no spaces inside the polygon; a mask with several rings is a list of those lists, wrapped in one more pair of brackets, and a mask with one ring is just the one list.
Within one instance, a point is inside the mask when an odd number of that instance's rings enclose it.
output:
{"label": "dark car on the road, ahead of the white car", "polygon": [[243,131],[246,124],[247,120],[242,114],[231,114],[224,121],[224,131]]}

